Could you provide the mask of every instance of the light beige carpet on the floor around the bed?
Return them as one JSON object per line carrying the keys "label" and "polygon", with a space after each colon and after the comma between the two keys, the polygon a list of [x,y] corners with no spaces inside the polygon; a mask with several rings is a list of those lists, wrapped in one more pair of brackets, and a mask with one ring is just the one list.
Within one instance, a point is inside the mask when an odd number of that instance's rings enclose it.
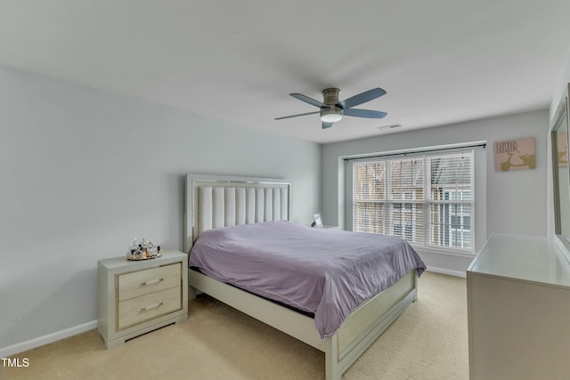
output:
{"label": "light beige carpet on the floor around the bed", "polygon": [[[206,297],[187,321],[112,350],[90,331],[16,355],[12,379],[322,379],[324,355]],[[426,272],[419,299],[349,368],[343,379],[468,378],[465,279]]]}

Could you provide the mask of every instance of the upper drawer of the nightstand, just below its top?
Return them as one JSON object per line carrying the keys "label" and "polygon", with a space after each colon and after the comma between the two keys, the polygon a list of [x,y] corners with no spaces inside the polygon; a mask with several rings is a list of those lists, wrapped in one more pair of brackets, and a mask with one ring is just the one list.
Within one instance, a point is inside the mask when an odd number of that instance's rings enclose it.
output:
{"label": "upper drawer of the nightstand, just below its top", "polygon": [[118,302],[180,287],[181,263],[118,275]]}

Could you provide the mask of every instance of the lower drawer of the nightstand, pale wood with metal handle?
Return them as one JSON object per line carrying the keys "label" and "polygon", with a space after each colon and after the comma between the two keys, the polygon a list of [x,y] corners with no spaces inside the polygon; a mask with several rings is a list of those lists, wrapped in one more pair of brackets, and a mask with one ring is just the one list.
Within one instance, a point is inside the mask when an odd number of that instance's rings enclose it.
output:
{"label": "lower drawer of the nightstand, pale wood with metal handle", "polygon": [[181,287],[132,298],[118,303],[117,329],[131,327],[178,310],[182,310]]}

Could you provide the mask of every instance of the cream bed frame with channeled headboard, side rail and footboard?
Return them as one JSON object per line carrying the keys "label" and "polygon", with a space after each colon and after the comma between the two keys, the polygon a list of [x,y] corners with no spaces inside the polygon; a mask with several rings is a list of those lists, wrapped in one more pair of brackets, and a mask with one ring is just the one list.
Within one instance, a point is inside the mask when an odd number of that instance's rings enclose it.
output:
{"label": "cream bed frame with channeled headboard, side rail and footboard", "polygon": [[[203,230],[289,220],[291,185],[267,178],[186,175],[185,243],[190,254]],[[237,287],[188,271],[189,299],[203,292],[325,353],[327,380],[340,380],[355,360],[417,298],[416,271],[353,311],[338,331],[321,340],[314,319]]]}

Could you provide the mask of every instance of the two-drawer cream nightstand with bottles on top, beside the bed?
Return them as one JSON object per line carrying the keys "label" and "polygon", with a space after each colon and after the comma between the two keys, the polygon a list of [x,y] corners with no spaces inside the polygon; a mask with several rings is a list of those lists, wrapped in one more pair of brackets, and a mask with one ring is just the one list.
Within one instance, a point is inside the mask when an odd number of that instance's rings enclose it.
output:
{"label": "two-drawer cream nightstand with bottles on top, beside the bed", "polygon": [[188,255],[165,251],[151,260],[99,261],[99,334],[111,348],[188,318]]}

